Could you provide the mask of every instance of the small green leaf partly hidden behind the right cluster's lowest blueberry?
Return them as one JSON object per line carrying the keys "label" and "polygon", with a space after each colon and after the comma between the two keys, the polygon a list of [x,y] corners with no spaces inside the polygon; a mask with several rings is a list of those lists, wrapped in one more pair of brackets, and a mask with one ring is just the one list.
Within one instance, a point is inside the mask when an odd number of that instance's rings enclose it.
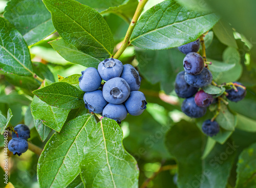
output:
{"label": "small green leaf partly hidden behind the right cluster's lowest blueberry", "polygon": [[[202,118],[197,118],[196,123],[198,128],[202,131],[203,122],[207,119],[211,119],[212,117],[214,117],[214,114],[207,112]],[[233,131],[220,128],[220,132],[216,136],[211,137],[211,139],[215,140],[220,144],[224,144],[228,140],[228,138],[232,135],[232,133]]]}

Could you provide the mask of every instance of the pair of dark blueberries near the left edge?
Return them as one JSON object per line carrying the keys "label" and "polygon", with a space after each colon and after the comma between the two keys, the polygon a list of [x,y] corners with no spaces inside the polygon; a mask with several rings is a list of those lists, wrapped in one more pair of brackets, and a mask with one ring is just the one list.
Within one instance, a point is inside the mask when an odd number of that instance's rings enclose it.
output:
{"label": "pair of dark blueberries near the left edge", "polygon": [[18,124],[14,127],[17,132],[12,132],[12,140],[8,143],[8,149],[13,152],[14,155],[20,156],[26,152],[29,148],[28,139],[30,138],[30,129],[27,125]]}

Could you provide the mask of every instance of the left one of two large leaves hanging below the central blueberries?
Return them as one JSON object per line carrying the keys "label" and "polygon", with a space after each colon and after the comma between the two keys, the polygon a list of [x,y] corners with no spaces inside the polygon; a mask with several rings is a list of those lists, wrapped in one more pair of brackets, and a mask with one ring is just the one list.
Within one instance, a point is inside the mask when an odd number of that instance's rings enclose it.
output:
{"label": "left one of two large leaves hanging below the central blueberries", "polygon": [[59,133],[54,133],[38,160],[37,177],[41,188],[66,187],[77,177],[83,148],[89,140],[88,128],[95,125],[94,116],[84,114],[66,123]]}

